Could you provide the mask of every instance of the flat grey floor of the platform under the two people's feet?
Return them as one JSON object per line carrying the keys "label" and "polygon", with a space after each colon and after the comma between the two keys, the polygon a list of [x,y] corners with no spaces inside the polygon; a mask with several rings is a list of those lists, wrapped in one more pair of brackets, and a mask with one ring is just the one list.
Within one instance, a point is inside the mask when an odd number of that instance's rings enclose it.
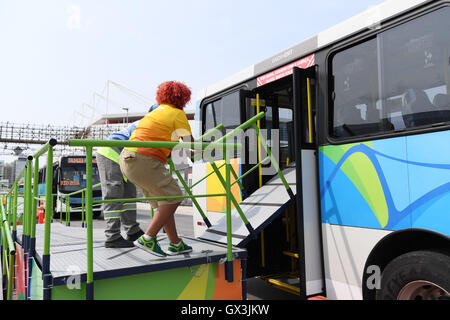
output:
{"label": "flat grey floor of the platform under the two people's feet", "polygon": [[[22,239],[22,228],[18,227],[18,239]],[[94,278],[104,279],[129,274],[190,267],[198,264],[217,262],[226,257],[226,246],[207,243],[199,239],[182,236],[192,246],[190,253],[157,257],[143,249],[105,248],[104,230],[93,229]],[[165,250],[169,240],[165,235],[158,236],[161,248]],[[42,262],[44,248],[44,225],[36,226],[36,258]],[[245,250],[234,248],[233,253],[246,256]],[[68,277],[81,275],[86,280],[86,229],[66,227],[60,223],[51,225],[50,271],[53,284],[64,284]]]}

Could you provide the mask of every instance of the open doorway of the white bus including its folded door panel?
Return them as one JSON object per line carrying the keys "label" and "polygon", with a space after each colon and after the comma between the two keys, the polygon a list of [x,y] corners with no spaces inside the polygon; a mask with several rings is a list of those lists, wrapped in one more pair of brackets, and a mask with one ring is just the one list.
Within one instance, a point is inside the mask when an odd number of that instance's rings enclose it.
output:
{"label": "open doorway of the white bus including its folded door panel", "polygon": [[[301,297],[321,293],[324,288],[315,142],[315,75],[315,67],[295,68],[292,75],[249,92],[245,106],[246,119],[254,116],[258,107],[260,112],[266,113],[259,126],[282,171],[285,174],[295,171],[297,187],[295,201],[284,206],[283,213],[265,224],[258,239],[247,244],[249,255],[254,257],[248,261],[248,276],[261,276],[267,283]],[[249,159],[248,154],[255,149],[248,141],[245,146],[245,159]],[[261,149],[259,146],[256,150],[261,153]],[[246,172],[247,167],[253,165],[244,163],[242,171]],[[243,181],[247,194],[273,176],[261,176],[261,171],[255,170]]]}

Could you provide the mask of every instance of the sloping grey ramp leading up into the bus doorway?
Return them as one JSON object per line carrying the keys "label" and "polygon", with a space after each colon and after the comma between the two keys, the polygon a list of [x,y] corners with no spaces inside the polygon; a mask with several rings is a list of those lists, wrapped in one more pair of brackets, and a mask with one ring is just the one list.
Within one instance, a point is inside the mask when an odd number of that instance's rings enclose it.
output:
{"label": "sloping grey ramp leading up into the bus doorway", "polygon": [[[284,169],[283,175],[286,178],[294,195],[296,194],[296,173],[295,167],[291,166]],[[240,207],[246,218],[252,225],[255,233],[259,233],[268,224],[270,224],[279,214],[293,203],[280,177],[276,175],[265,185],[252,193],[248,198],[240,203]],[[243,223],[236,209],[231,212],[232,221],[232,243],[233,246],[244,247],[251,234]],[[217,224],[208,228],[200,239],[214,241],[217,243],[227,242],[226,215],[218,221]]]}

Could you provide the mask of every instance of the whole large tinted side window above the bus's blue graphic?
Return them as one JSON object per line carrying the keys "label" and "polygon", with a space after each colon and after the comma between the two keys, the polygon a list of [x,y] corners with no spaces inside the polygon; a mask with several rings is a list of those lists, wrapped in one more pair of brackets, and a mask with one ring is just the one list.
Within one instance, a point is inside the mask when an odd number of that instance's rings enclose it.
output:
{"label": "whole large tinted side window above the bus's blue graphic", "polygon": [[331,135],[364,136],[450,121],[447,30],[450,8],[445,7],[337,53]]}

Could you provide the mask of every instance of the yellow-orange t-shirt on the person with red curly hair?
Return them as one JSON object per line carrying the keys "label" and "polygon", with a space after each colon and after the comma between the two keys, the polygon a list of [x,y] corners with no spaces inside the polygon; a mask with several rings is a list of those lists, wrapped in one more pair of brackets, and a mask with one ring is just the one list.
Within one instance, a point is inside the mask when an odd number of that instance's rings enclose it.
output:
{"label": "yellow-orange t-shirt on the person with red curly hair", "polygon": [[[178,141],[181,137],[192,135],[191,126],[183,110],[169,104],[158,108],[139,121],[130,141]],[[158,159],[166,163],[171,149],[163,148],[127,148],[137,153]]]}

